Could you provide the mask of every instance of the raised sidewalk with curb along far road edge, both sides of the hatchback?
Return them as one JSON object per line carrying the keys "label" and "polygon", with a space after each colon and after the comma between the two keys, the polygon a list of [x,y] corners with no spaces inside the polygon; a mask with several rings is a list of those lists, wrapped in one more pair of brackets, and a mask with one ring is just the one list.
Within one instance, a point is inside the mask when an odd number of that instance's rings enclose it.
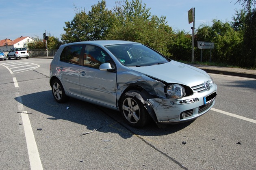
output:
{"label": "raised sidewalk with curb along far road edge, both sides of the hatchback", "polygon": [[[30,57],[30,58],[46,58],[52,59],[52,56],[49,57]],[[216,66],[208,66],[208,65],[192,65],[199,69],[206,71],[207,73],[215,73],[215,74],[224,74],[224,75],[234,75],[239,77],[247,77],[256,79],[256,70],[249,69],[237,69],[237,68],[229,68],[229,67],[216,67]]]}

